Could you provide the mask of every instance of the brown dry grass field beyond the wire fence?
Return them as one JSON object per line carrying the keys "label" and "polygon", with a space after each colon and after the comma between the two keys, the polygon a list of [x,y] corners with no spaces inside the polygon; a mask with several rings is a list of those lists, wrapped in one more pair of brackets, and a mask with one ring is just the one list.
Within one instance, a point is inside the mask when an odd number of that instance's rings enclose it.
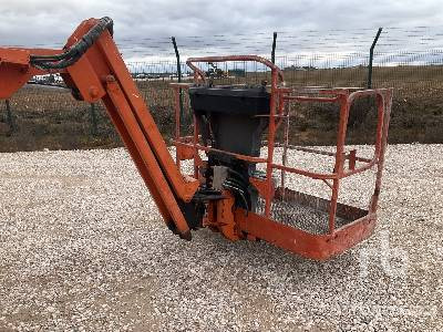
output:
{"label": "brown dry grass field beyond the wire fence", "polygon": [[[285,77],[292,86],[364,86],[365,68],[328,70],[286,70]],[[264,73],[248,73],[249,83],[269,80]],[[240,83],[244,77],[224,79],[220,83]],[[168,81],[137,82],[159,129],[171,137],[174,128],[173,93]],[[393,87],[394,101],[390,127],[391,143],[443,143],[443,66],[375,68],[374,87]],[[187,102],[185,101],[185,105]],[[27,86],[10,101],[8,116],[0,103],[0,152],[75,149],[115,147],[122,143],[104,108],[94,110],[76,102],[69,91]],[[374,113],[371,103],[360,103],[357,122],[349,127],[350,144],[372,143]],[[369,110],[368,112],[365,110]],[[300,108],[302,116],[291,125],[293,144],[333,144],[337,116],[333,107],[312,105]],[[11,131],[13,122],[14,131]]]}

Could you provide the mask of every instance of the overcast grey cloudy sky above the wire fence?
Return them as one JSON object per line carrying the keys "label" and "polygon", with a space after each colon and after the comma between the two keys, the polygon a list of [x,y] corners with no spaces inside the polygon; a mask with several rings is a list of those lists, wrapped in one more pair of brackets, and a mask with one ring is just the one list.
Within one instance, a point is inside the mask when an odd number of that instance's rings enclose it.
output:
{"label": "overcast grey cloudy sky above the wire fence", "polygon": [[442,0],[0,0],[0,44],[27,46],[62,45],[83,19],[104,15],[114,20],[122,46],[257,31],[370,28],[371,37],[378,27],[441,27],[443,19]]}

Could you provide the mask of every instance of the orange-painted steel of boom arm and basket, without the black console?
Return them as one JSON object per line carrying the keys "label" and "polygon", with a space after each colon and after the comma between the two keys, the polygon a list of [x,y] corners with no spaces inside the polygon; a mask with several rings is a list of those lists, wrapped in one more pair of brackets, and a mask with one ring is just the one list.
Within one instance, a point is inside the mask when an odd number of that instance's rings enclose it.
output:
{"label": "orange-painted steel of boom arm and basket, without the black console", "polygon": [[[96,19],[83,21],[68,40],[66,46],[73,45],[96,23]],[[197,168],[203,166],[205,162],[199,158],[198,152],[214,151],[210,147],[198,144],[199,134],[197,124],[195,123],[194,125],[193,137],[179,137],[179,123],[176,131],[177,164],[179,164],[181,159],[194,159],[194,177],[189,177],[182,175],[179,167],[174,163],[166,143],[158,132],[109,31],[104,31],[80,60],[66,69],[56,71],[39,70],[30,64],[31,54],[54,55],[62,52],[63,50],[0,48],[0,98],[9,98],[33,75],[59,72],[66,85],[78,91],[84,101],[93,103],[102,100],[165,222],[168,227],[175,228],[182,238],[190,239],[189,227],[179,208],[178,200],[184,203],[190,201],[199,187]],[[326,259],[368,237],[372,232],[375,222],[377,201],[380,194],[387,144],[391,91],[370,90],[351,93],[347,90],[339,90],[322,92],[324,94],[332,94],[333,97],[295,96],[291,95],[292,90],[279,85],[279,83],[284,82],[282,72],[270,61],[255,55],[189,59],[187,63],[194,70],[196,82],[205,80],[204,73],[194,65],[194,62],[197,61],[256,61],[267,65],[271,70],[267,157],[251,157],[224,152],[235,155],[239,159],[266,164],[266,178],[262,180],[251,178],[251,184],[257,187],[259,194],[266,200],[265,215],[246,214],[245,210],[235,208],[233,195],[229,191],[224,191],[225,199],[207,203],[205,224],[212,229],[222,231],[231,240],[240,238],[264,239],[278,247],[313,259]],[[177,93],[179,87],[186,87],[186,85],[174,85]],[[352,101],[365,95],[375,95],[378,101],[379,124],[375,154],[371,160],[367,160],[365,166],[354,169],[354,162],[364,162],[364,158],[359,159],[352,154],[346,156],[343,153],[347,121]],[[285,104],[293,100],[299,102],[337,102],[340,104],[341,117],[337,142],[336,167],[332,174],[310,173],[272,162],[276,129],[285,116]],[[178,112],[177,103],[177,115]],[[343,165],[346,159],[349,159],[350,165],[353,165],[352,169],[344,170]],[[374,165],[378,166],[378,173],[369,214],[342,228],[336,229],[334,218],[340,179],[363,172]],[[330,201],[328,235],[311,235],[276,222],[270,218],[271,201],[276,193],[272,181],[274,169],[295,173],[324,181],[328,181],[328,179],[332,180],[332,185],[330,185],[332,198]]]}

